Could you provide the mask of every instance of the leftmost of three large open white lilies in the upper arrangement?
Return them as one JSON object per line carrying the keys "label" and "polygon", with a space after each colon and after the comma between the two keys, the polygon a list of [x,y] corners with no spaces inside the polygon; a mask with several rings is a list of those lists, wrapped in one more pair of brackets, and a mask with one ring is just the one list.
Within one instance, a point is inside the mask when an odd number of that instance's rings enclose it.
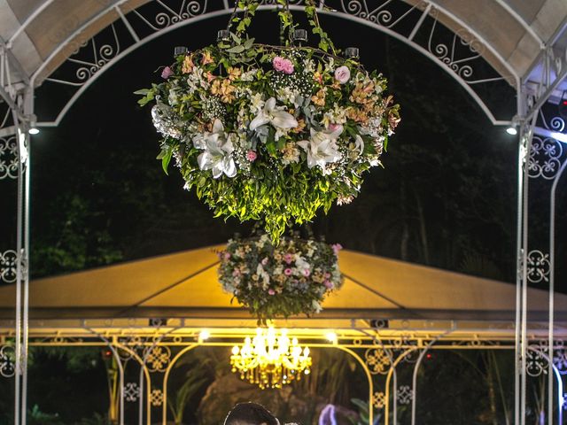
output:
{"label": "leftmost of three large open white lilies in the upper arrangement", "polygon": [[193,138],[193,145],[197,149],[204,150],[197,157],[198,166],[201,170],[212,170],[213,177],[218,179],[224,173],[227,177],[237,175],[237,166],[232,158],[231,135],[224,132],[221,120],[214,120],[213,132],[206,132]]}

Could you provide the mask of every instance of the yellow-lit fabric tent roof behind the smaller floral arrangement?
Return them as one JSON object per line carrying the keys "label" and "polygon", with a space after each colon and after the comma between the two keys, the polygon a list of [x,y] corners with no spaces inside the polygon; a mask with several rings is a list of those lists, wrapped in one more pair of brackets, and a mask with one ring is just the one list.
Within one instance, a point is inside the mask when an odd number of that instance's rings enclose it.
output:
{"label": "yellow-lit fabric tent roof behind the smaller floral arrangement", "polygon": [[[221,247],[216,247],[216,250]],[[250,318],[221,290],[214,248],[183,251],[30,283],[30,317],[117,319]],[[514,285],[341,251],[341,290],[323,304],[325,319],[513,321]],[[548,294],[529,290],[533,321],[545,321]],[[13,317],[15,287],[0,287],[0,319]],[[567,318],[567,296],[555,295],[556,319]]]}

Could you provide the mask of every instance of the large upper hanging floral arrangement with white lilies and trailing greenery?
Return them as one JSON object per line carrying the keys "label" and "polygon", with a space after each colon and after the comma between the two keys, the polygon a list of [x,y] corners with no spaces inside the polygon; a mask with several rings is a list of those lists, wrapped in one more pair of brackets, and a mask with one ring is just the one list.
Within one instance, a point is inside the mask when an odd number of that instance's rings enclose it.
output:
{"label": "large upper hanging floral arrangement with white lilies and trailing greenery", "polygon": [[301,45],[307,31],[278,3],[282,45],[246,35],[259,2],[241,0],[216,44],[180,50],[161,82],[136,92],[152,104],[166,173],[175,158],[185,188],[216,217],[262,220],[274,241],[320,208],[350,203],[400,121],[384,76],[364,70],[356,49],[339,56],[313,0],[305,11],[318,48]]}

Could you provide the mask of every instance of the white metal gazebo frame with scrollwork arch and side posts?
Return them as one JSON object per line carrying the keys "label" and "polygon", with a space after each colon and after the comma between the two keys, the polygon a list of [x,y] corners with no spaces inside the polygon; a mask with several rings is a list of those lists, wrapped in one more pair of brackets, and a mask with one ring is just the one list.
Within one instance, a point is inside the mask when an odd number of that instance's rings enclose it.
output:
{"label": "white metal gazebo frame with scrollwork arch and side posts", "polygon": [[[526,386],[530,372],[529,368],[533,359],[533,353],[539,361],[547,363],[548,394],[554,393],[555,380],[559,373],[554,359],[556,351],[563,351],[563,344],[555,341],[555,198],[559,180],[567,165],[567,158],[563,152],[562,143],[567,142],[565,134],[565,123],[559,117],[548,120],[543,112],[542,106],[551,97],[557,97],[557,90],[567,76],[567,51],[564,49],[564,39],[567,33],[567,18],[563,19],[561,25],[555,28],[547,40],[542,40],[529,24],[511,7],[505,0],[493,0],[503,10],[509,12],[513,19],[524,27],[527,34],[540,43],[540,54],[532,62],[527,71],[518,75],[509,60],[503,58],[498,50],[493,48],[491,42],[483,38],[475,27],[460,19],[451,9],[444,7],[432,0],[424,1],[396,1],[380,0],[377,4],[369,5],[366,0],[343,0],[340,2],[338,12],[335,16],[348,19],[353,22],[375,28],[386,35],[390,35],[400,42],[431,58],[439,64],[441,69],[451,75],[494,125],[512,126],[519,128],[519,155],[517,158],[517,308],[516,326],[513,346],[511,341],[506,345],[507,349],[513,347],[516,352],[516,386],[515,386],[515,415],[514,423],[524,425],[526,416]],[[16,285],[16,316],[14,322],[14,349],[15,365],[13,365],[15,376],[15,423],[26,423],[27,414],[27,350],[29,341],[29,178],[30,166],[30,135],[29,130],[36,125],[40,127],[57,126],[65,117],[66,112],[73,106],[74,102],[81,97],[82,93],[91,84],[97,81],[97,77],[114,64],[126,57],[130,52],[145,43],[167,34],[179,27],[190,25],[198,20],[213,18],[215,16],[227,15],[232,10],[229,0],[223,0],[217,4],[210,4],[206,0],[185,1],[178,9],[168,5],[162,0],[150,2],[137,2],[136,6],[129,4],[129,0],[99,0],[101,6],[99,11],[86,21],[74,23],[74,31],[65,35],[58,42],[58,47],[50,52],[41,65],[31,74],[27,73],[13,53],[19,37],[23,36],[27,27],[32,25],[35,19],[49,9],[56,0],[45,0],[27,19],[21,24],[17,31],[7,41],[0,41],[0,97],[4,100],[5,112],[0,112],[0,180],[12,180],[17,186],[16,214],[17,226],[15,229],[15,249],[0,251],[0,279],[4,282],[15,282]],[[262,8],[275,7],[273,2],[265,1]],[[291,1],[291,8],[298,9],[301,1]],[[321,2],[323,5],[324,2]],[[153,9],[149,9],[150,6]],[[394,7],[395,6],[395,7]],[[152,10],[152,14],[148,11]],[[322,9],[324,13],[330,13]],[[439,20],[442,18],[442,20]],[[92,35],[89,28],[100,21],[108,21],[106,26],[98,25],[101,31]],[[409,24],[408,24],[409,22]],[[444,25],[445,24],[445,25]],[[118,26],[122,30],[117,30]],[[408,27],[410,28],[408,32]],[[124,34],[127,38],[124,38]],[[440,37],[440,38],[439,38]],[[111,42],[108,42],[110,40]],[[440,40],[440,41],[439,41]],[[128,46],[124,48],[124,46]],[[463,49],[464,46],[464,49]],[[79,49],[78,52],[74,50]],[[53,70],[58,68],[60,58],[65,58],[65,64],[59,69],[71,70],[74,80],[59,78],[53,75]],[[493,74],[475,74],[475,63],[478,60],[490,58]],[[482,68],[482,67],[480,67]],[[484,68],[486,69],[486,67]],[[489,69],[489,71],[490,71]],[[491,71],[492,72],[492,71]],[[12,81],[13,73],[21,78]],[[479,71],[480,73],[480,71]],[[535,76],[535,77],[534,77]],[[535,82],[534,82],[535,81]],[[491,110],[487,101],[483,99],[478,87],[486,87],[487,84],[507,82],[517,94],[517,110],[510,113],[509,117],[501,119]],[[76,89],[74,94],[66,101],[66,104],[53,117],[35,117],[34,94],[40,85],[62,84]],[[531,179],[547,181],[549,187],[549,235],[548,247],[530,249],[530,221],[532,216],[529,204],[529,183]],[[540,340],[541,335],[530,335],[528,326],[529,300],[528,285],[534,282],[548,282],[548,323],[545,329],[545,341],[547,344],[532,346],[533,339]],[[151,332],[154,332],[153,329]],[[140,329],[140,332],[142,330]],[[189,336],[181,336],[181,342],[172,340],[171,344],[188,344],[183,338],[194,338],[194,332],[188,331]],[[193,332],[193,334],[191,334]],[[5,336],[3,342],[5,342]],[[50,343],[40,343],[35,339],[33,344],[66,344],[72,345],[67,336],[64,339],[56,339]],[[70,335],[69,338],[78,337]],[[84,336],[82,336],[84,337]],[[121,344],[118,336],[108,334],[101,337],[108,339],[110,347],[120,348],[128,351],[128,344]],[[228,337],[228,336],[227,336]],[[439,336],[441,337],[441,336]],[[369,339],[355,338],[361,340],[360,346],[364,344],[382,344],[384,341],[377,335],[369,336]],[[418,341],[416,336],[416,341]],[[416,367],[423,359],[423,354],[430,348],[435,348],[435,338],[425,338],[418,343],[421,350]],[[102,343],[97,343],[102,344]],[[147,344],[147,343],[144,343]],[[151,343],[153,347],[167,346],[165,336]],[[218,343],[198,344],[229,344],[225,341]],[[398,345],[396,345],[398,344]],[[387,338],[384,341],[384,350],[397,347],[406,347],[407,350],[415,351],[415,345],[392,343]],[[485,346],[484,342],[479,343]],[[0,369],[8,365],[7,357],[4,356],[5,346],[2,344],[0,351]],[[354,349],[354,342],[346,342],[340,345],[346,350]],[[486,347],[493,344],[486,343]],[[193,345],[190,345],[193,346]],[[315,345],[314,345],[315,346]],[[326,346],[321,343],[321,346]],[[113,350],[114,355],[118,355]],[[131,350],[130,350],[131,352]],[[134,356],[134,354],[132,354]],[[400,354],[402,356],[402,354]],[[564,352],[563,352],[564,356]],[[389,380],[395,380],[395,368],[402,357],[389,359],[387,385],[384,396],[376,395],[370,390],[371,400],[375,406],[379,400],[384,401],[386,409],[385,422],[388,423],[387,409],[390,404]],[[379,362],[378,362],[379,363]],[[540,363],[538,363],[540,364]],[[145,362],[142,361],[142,369]],[[365,367],[369,372],[368,364]],[[543,371],[543,369],[542,369]],[[147,371],[146,371],[147,372]],[[393,375],[393,378],[392,378]],[[142,376],[142,375],[141,375]],[[559,375],[561,378],[561,375]],[[414,380],[416,375],[414,376]],[[414,382],[415,383],[415,382]],[[563,388],[562,380],[557,381],[557,390]],[[370,386],[370,388],[372,388]],[[411,390],[414,387],[409,388]],[[149,390],[149,388],[147,389]],[[394,386],[394,391],[397,387]],[[147,403],[150,403],[151,394]],[[558,393],[560,400],[557,402],[558,412],[561,414],[563,406],[563,394]],[[165,394],[164,394],[164,397]],[[123,403],[124,395],[120,396]],[[397,396],[394,393],[394,412]],[[377,401],[378,400],[378,401]],[[415,401],[412,408],[412,423],[415,423]],[[548,424],[559,423],[554,421],[554,398],[548,397]],[[123,413],[123,410],[121,411]],[[140,415],[142,421],[143,415]],[[394,413],[395,423],[395,413]]]}

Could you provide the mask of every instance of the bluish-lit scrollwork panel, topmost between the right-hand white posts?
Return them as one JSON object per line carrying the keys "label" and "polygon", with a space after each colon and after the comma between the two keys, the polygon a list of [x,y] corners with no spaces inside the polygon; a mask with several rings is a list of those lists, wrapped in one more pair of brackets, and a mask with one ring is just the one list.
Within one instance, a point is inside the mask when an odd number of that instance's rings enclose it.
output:
{"label": "bluish-lit scrollwork panel, topmost between the right-hand white posts", "polygon": [[560,142],[551,137],[541,139],[534,135],[528,160],[528,174],[532,178],[553,179],[561,167],[562,155],[563,147]]}

